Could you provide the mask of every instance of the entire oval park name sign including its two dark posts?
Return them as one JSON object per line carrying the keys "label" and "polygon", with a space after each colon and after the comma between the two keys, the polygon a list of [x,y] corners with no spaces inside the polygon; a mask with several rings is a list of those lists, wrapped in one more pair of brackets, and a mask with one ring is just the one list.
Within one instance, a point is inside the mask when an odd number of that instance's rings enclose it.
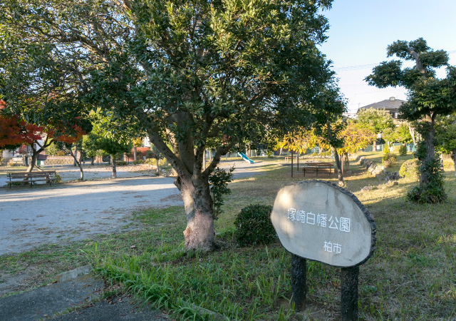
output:
{"label": "entire oval park name sign including its two dark posts", "polygon": [[358,320],[359,267],[371,257],[375,223],[355,195],[323,180],[303,180],[277,193],[271,222],[291,253],[296,310],[306,300],[306,259],[341,268],[341,320]]}

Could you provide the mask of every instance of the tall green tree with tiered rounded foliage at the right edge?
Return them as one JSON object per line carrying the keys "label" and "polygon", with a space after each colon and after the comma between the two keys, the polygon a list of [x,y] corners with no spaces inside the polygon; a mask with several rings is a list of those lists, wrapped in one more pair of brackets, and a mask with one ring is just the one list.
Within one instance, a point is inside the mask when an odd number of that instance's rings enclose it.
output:
{"label": "tall green tree with tiered rounded foliage at the right edge", "polygon": [[[418,132],[423,141],[418,144],[420,186],[409,193],[409,198],[422,203],[445,200],[442,164],[435,155],[435,120],[456,108],[456,70],[448,66],[446,51],[434,51],[423,38],[415,41],[395,41],[387,49],[388,57],[397,56],[413,61],[415,66],[402,68],[403,61],[384,61],[373,68],[366,81],[378,88],[402,86],[408,89],[408,102],[400,106],[401,118],[419,121]],[[436,77],[436,69],[447,67],[447,77]]]}

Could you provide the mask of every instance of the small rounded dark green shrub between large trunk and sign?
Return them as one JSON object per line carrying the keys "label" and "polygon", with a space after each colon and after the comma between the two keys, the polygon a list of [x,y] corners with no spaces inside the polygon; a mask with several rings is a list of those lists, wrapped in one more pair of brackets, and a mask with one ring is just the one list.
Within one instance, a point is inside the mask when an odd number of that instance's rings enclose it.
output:
{"label": "small rounded dark green shrub between large trunk and sign", "polygon": [[234,235],[239,245],[268,244],[276,238],[276,231],[269,218],[271,210],[272,206],[259,204],[242,208],[234,220]]}

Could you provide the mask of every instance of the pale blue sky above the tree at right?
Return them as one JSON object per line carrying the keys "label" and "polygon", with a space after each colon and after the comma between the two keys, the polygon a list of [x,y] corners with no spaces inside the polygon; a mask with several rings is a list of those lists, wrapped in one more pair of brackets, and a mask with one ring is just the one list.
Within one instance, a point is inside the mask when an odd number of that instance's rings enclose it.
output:
{"label": "pale blue sky above the tree at right", "polygon": [[[403,88],[378,89],[363,81],[381,61],[398,59],[386,57],[393,41],[423,37],[456,65],[456,0],[334,0],[323,14],[331,28],[321,51],[333,61],[350,113],[391,96],[407,99]],[[438,75],[445,77],[445,71]]]}

